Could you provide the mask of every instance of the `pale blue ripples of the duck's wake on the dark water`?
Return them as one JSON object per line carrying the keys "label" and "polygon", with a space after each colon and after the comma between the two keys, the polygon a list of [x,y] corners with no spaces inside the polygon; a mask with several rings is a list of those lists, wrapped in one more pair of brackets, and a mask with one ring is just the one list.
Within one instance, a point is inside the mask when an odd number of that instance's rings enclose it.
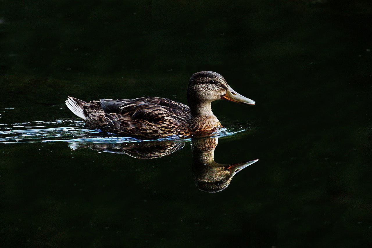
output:
{"label": "pale blue ripples of the duck's wake on the dark water", "polygon": [[[234,123],[221,128],[212,136],[224,137],[251,129],[247,125]],[[180,140],[190,141],[190,138],[171,136],[161,139],[141,140],[103,133],[99,130],[84,128],[84,122],[78,120],[52,120],[49,122],[34,121],[13,123],[0,126],[0,143],[35,143],[35,142],[94,142],[94,143],[124,143],[143,141]]]}

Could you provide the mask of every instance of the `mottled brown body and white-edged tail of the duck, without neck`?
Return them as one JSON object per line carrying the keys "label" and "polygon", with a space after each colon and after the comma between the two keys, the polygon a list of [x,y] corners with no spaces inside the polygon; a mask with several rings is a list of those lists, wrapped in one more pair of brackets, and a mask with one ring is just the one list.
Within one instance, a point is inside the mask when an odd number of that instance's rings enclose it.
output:
{"label": "mottled brown body and white-edged tail of the duck, without neck", "polygon": [[166,98],[100,99],[85,103],[70,97],[67,100],[70,109],[69,104],[74,104],[71,101],[81,107],[85,116],[82,118],[90,128],[146,138],[189,135],[189,107]]}

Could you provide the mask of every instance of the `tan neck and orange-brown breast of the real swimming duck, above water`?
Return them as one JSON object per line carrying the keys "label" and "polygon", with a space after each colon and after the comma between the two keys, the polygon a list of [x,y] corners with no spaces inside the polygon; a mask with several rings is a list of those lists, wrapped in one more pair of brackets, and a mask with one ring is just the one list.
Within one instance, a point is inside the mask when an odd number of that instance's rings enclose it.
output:
{"label": "tan neck and orange-brown breast of the real swimming duck, above water", "polygon": [[206,133],[221,127],[217,117],[213,115],[211,102],[190,103],[189,129],[192,133]]}

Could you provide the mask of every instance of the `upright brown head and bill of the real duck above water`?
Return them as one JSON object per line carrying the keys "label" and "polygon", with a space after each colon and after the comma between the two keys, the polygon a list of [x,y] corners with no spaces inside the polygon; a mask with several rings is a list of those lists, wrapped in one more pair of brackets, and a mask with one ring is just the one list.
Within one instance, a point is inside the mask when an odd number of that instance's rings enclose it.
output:
{"label": "upright brown head and bill of the real duck above water", "polygon": [[213,71],[200,71],[191,76],[187,87],[189,104],[210,103],[218,99],[254,105],[255,102],[233,90],[225,78]]}

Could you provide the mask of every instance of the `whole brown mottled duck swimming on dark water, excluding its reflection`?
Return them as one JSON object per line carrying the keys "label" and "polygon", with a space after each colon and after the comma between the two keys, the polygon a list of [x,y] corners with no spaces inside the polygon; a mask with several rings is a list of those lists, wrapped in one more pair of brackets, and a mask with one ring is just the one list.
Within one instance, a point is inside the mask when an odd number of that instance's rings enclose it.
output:
{"label": "whole brown mottled duck swimming on dark water, excluding its reflection", "polygon": [[222,127],[213,115],[211,102],[227,99],[254,105],[236,93],[225,78],[213,71],[191,76],[187,87],[190,107],[160,97],[100,99],[84,102],[68,97],[67,107],[92,129],[139,138],[165,138],[172,135],[206,135]]}

